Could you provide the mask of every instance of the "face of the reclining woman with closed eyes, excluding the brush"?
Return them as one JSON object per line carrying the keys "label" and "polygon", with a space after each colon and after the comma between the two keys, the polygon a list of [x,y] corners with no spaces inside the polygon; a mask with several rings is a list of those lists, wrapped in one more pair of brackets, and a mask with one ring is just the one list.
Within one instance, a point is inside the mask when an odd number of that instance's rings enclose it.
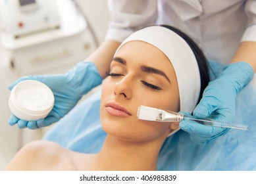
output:
{"label": "face of the reclining woman with closed eyes, excluding the brush", "polygon": [[170,124],[138,120],[140,105],[178,112],[178,84],[174,68],[164,53],[149,43],[130,41],[116,53],[110,76],[103,81],[103,129],[128,141],[166,137]]}

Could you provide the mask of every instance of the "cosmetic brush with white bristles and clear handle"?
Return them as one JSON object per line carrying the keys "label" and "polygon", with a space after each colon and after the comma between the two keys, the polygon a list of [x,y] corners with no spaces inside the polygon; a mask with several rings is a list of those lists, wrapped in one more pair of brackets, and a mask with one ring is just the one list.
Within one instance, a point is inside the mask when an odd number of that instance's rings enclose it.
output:
{"label": "cosmetic brush with white bristles and clear handle", "polygon": [[172,112],[170,110],[161,110],[159,108],[152,108],[149,106],[139,106],[137,116],[139,120],[154,121],[154,122],[182,122],[183,120],[192,120],[199,124],[206,126],[215,127],[229,127],[234,129],[247,130],[248,126],[243,124],[232,124],[227,122],[220,122],[218,120],[213,120],[209,118],[195,118],[187,114],[180,114],[177,112]]}

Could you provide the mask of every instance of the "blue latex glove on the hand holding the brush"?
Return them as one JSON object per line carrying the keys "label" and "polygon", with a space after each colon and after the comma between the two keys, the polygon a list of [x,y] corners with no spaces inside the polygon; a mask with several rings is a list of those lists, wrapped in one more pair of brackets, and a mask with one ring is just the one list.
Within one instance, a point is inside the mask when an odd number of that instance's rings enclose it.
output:
{"label": "blue latex glove on the hand holding the brush", "polygon": [[[253,74],[253,68],[246,62],[228,64],[216,80],[209,82],[200,103],[193,110],[193,116],[234,122],[236,96],[252,80]],[[193,121],[180,122],[180,128],[190,133],[191,139],[199,145],[207,145],[228,131],[228,128],[210,127]]]}

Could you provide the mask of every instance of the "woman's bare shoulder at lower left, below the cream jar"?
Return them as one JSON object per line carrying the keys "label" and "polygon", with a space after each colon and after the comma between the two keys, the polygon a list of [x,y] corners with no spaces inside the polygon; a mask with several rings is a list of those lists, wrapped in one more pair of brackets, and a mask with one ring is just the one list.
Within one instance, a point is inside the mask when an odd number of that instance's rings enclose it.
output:
{"label": "woman's bare shoulder at lower left, below the cream jar", "polygon": [[51,141],[33,141],[20,149],[5,170],[72,170],[68,150]]}

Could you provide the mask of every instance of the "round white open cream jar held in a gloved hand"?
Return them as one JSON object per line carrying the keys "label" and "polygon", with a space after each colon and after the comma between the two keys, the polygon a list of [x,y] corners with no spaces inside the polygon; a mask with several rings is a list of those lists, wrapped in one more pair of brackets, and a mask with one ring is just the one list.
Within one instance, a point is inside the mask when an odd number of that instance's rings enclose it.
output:
{"label": "round white open cream jar held in a gloved hand", "polygon": [[14,116],[27,121],[45,118],[53,105],[51,89],[36,80],[21,81],[14,86],[9,98],[9,108]]}

